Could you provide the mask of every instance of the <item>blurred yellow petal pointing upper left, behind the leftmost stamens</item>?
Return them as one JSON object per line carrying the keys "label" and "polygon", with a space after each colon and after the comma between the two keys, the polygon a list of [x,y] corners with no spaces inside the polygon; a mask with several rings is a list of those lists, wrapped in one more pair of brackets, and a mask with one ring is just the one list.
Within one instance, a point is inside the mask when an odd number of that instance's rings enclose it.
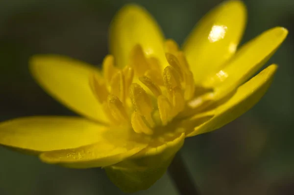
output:
{"label": "blurred yellow petal pointing upper left, behind the leftmost stamens", "polygon": [[31,73],[50,95],[79,114],[107,122],[89,81],[98,69],[58,55],[36,55],[30,60]]}

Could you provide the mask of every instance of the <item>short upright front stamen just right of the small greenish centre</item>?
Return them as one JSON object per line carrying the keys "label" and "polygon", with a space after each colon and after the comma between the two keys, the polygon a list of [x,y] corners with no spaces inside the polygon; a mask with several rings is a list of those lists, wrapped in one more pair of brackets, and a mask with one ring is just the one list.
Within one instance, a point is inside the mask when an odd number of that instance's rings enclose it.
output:
{"label": "short upright front stamen just right of the small greenish centre", "polygon": [[157,105],[162,125],[167,125],[172,119],[172,105],[164,95],[158,96]]}

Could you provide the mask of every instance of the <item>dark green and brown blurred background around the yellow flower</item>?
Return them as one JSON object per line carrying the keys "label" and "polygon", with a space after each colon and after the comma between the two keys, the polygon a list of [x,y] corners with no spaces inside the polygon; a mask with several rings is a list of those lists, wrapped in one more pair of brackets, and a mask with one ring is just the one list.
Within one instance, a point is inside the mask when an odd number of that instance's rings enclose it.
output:
{"label": "dark green and brown blurred background around the yellow flower", "polygon": [[[0,120],[73,115],[32,80],[28,58],[58,53],[99,65],[115,12],[137,2],[167,38],[182,43],[221,0],[0,0]],[[279,65],[266,96],[234,122],[187,139],[181,153],[202,195],[294,194],[294,0],[245,0],[243,39],[274,26],[290,33],[271,58]],[[177,195],[168,174],[136,195]],[[123,195],[101,169],[72,170],[0,148],[0,195]]]}

